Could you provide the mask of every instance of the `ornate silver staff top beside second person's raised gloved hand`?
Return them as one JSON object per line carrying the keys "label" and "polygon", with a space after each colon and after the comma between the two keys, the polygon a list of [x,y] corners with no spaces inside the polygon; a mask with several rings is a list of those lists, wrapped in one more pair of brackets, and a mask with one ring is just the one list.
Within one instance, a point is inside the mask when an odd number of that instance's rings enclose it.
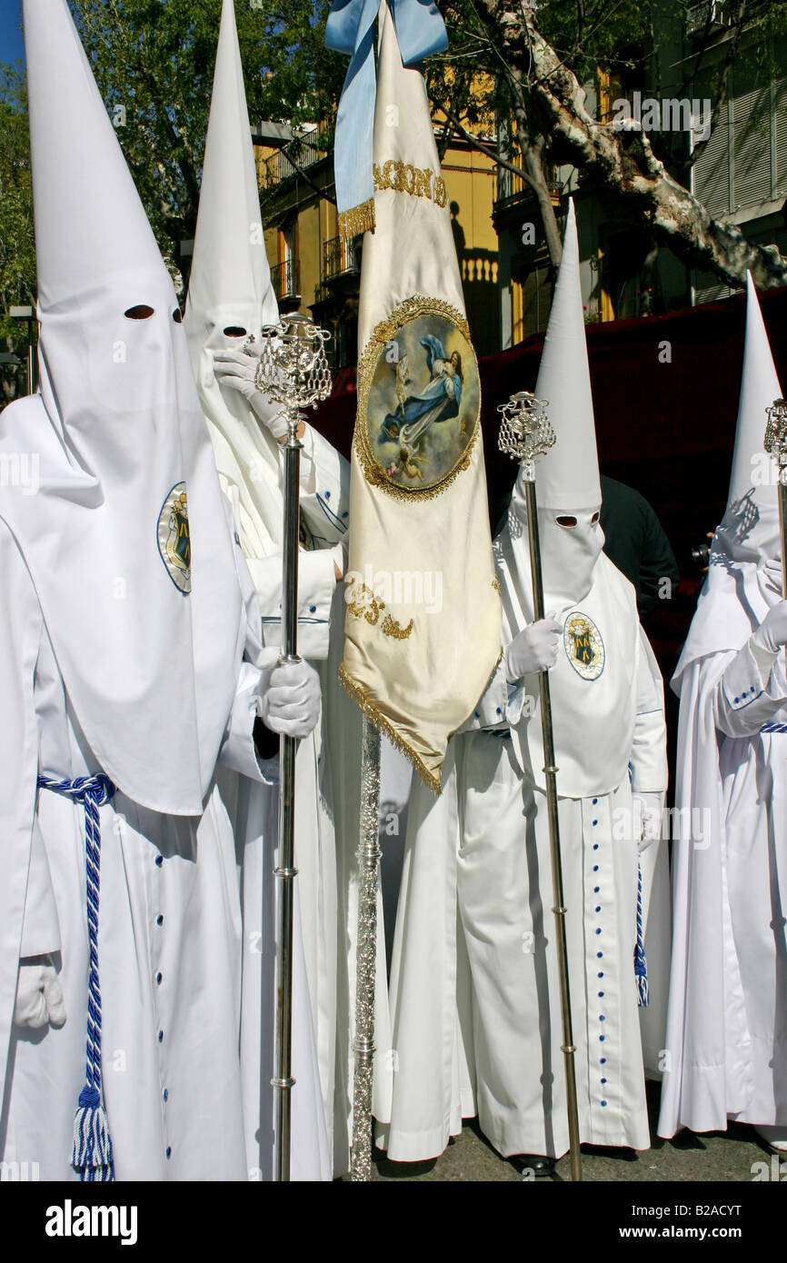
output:
{"label": "ornate silver staff top beside second person's raised gloved hand", "polygon": [[282,404],[291,438],[294,438],[302,408],[316,408],[331,393],[331,370],[325,344],[331,335],[308,316],[285,316],[278,325],[265,325],[263,350],[254,384],[273,403]]}

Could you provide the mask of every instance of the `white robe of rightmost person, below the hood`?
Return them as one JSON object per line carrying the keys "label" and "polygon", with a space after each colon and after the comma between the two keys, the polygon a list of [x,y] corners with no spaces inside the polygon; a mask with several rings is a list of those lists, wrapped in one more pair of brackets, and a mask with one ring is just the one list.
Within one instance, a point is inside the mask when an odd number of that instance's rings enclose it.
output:
{"label": "white robe of rightmost person, below the hood", "polygon": [[681,815],[658,1132],[724,1130],[730,1119],[784,1128],[784,659],[768,674],[747,642],[696,658],[680,679]]}

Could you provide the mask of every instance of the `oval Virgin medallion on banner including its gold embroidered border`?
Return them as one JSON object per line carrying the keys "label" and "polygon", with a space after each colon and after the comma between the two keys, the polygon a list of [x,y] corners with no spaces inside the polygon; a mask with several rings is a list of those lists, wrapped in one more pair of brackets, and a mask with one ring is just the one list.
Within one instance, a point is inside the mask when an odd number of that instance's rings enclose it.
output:
{"label": "oval Virgin medallion on banner including its gold embroidered border", "polygon": [[359,365],[355,442],[366,479],[397,499],[437,495],[470,462],[480,398],[461,312],[436,298],[400,303]]}

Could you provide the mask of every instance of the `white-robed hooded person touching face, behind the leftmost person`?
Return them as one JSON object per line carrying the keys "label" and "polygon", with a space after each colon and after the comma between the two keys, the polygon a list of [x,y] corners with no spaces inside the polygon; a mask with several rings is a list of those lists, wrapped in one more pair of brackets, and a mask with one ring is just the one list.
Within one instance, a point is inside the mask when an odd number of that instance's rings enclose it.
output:
{"label": "white-robed hooded person touching face, behind the leftmost person", "polygon": [[[278,307],[265,258],[235,13],[231,0],[225,0],[184,326],[219,479],[232,506],[240,546],[258,591],[268,645],[280,644],[283,461],[277,441],[248,399],[237,390],[220,385],[213,371],[213,356],[217,351],[240,351],[249,335],[259,340],[263,326],[277,321]],[[272,414],[274,410],[272,403]],[[345,1067],[350,1058],[352,983],[349,970],[354,935],[349,899],[357,847],[360,719],[337,686],[344,596],[337,587],[335,566],[344,573],[349,469],[335,448],[308,424],[303,445],[298,652],[321,676],[323,710],[313,735],[299,743],[296,758],[296,885],[312,1033],[304,1024],[307,1015],[298,1015],[296,995],[294,1021],[301,1026],[293,1032],[293,1048],[303,1050],[304,1043],[316,1041],[325,1116],[317,1128],[323,1135],[318,1137],[312,1129],[311,1149],[308,1144],[296,1146],[293,1142],[292,1158],[294,1177],[330,1178],[332,1171],[344,1173],[349,1163],[350,1087]],[[248,810],[243,803],[240,807],[248,816],[250,830],[244,849],[244,919],[248,933],[243,1061],[250,1163],[267,1178],[270,1167],[269,1127],[265,1123],[270,1100],[270,1050],[264,1045],[260,1047],[259,1012],[260,1003],[264,1010],[273,999],[270,930],[274,893],[267,889],[261,894],[261,890],[263,878],[269,882],[277,816],[275,802],[270,801],[269,793],[263,805],[264,791],[249,792],[254,801]],[[256,937],[260,932],[261,940]],[[341,1013],[339,1029],[337,1005]],[[380,1005],[384,1012],[384,974]],[[297,1068],[294,1077],[298,1080]],[[304,1100],[307,1091],[311,1089],[304,1074],[301,1074],[301,1081],[292,1092],[293,1110],[311,1110]],[[302,1123],[307,1135],[303,1116]]]}

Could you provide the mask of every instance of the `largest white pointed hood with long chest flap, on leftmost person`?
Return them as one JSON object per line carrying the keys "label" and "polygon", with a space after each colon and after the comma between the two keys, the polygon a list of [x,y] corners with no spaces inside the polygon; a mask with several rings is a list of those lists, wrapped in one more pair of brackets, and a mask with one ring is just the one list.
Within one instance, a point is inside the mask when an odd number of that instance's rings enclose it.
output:
{"label": "largest white pointed hood with long chest flap, on leftmost person", "polygon": [[24,28],[42,385],[0,450],[34,451],[40,485],[0,513],[100,767],[196,815],[235,692],[231,537],[172,280],[66,0],[25,0]]}

